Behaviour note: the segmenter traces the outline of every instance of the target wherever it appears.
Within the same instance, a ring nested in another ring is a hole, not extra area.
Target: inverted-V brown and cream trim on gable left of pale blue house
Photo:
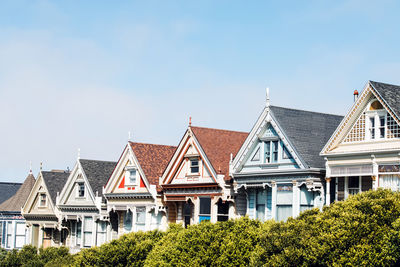
[[[175,175],[179,172],[179,169],[183,163],[183,160],[186,156],[186,153],[190,146],[193,145],[195,149],[199,152],[199,157],[201,158],[204,166],[207,168],[207,170],[211,174],[211,178],[215,183],[218,183],[218,176],[216,171],[211,165],[211,162],[207,158],[207,155],[205,154],[204,150],[201,147],[201,144],[197,140],[195,134],[189,127],[186,130],[186,133],[184,134],[181,142],[178,145],[178,148],[175,150],[174,155],[172,156],[171,161],[168,163],[167,168],[165,169],[162,177],[161,177],[161,184],[166,185],[170,184],[172,180],[174,179]],[[196,155],[197,156],[197,155]]]

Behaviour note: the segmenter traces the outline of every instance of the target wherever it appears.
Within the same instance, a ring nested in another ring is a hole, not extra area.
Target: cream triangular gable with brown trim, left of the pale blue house
[[[187,130],[162,177],[165,184],[217,183],[214,169],[194,134]]]

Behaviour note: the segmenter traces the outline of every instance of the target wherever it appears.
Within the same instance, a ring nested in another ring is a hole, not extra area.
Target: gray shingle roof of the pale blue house
[[[270,106],[273,117],[308,168],[325,168],[320,151],[343,116]]]

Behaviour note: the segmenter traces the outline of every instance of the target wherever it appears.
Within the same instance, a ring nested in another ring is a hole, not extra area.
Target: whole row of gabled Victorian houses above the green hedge
[[[250,132],[188,125],[175,146],[128,142],[118,161],[30,173],[0,204],[1,245],[99,246],[168,223],[286,220],[399,189],[400,86],[369,81],[345,117],[266,105]]]

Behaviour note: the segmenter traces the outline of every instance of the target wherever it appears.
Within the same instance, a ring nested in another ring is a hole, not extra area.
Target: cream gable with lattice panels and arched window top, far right
[[[400,127],[395,114],[368,83],[321,154],[379,149],[385,144],[378,143],[399,139]]]

